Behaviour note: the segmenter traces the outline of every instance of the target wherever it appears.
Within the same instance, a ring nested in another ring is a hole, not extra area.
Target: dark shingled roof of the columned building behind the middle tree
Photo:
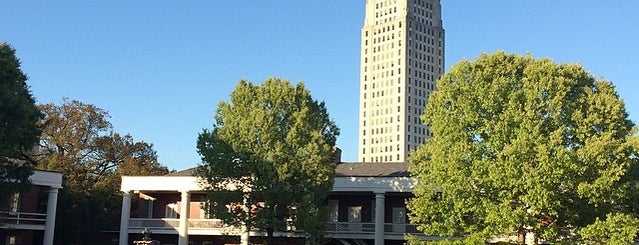
[[[195,176],[195,168],[189,168],[166,176]],[[336,177],[408,177],[408,163],[340,163],[335,167]]]

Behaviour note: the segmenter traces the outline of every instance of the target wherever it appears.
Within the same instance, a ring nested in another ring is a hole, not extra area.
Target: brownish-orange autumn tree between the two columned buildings
[[[40,145],[29,154],[38,168],[63,174],[56,244],[101,244],[100,232],[119,224],[122,175],[168,173],[153,145],[113,132],[109,114],[94,105],[65,99],[40,105]]]

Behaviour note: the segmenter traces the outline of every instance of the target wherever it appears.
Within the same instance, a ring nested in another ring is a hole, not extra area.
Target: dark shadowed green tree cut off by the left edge
[[[41,115],[15,50],[0,43],[0,211],[11,194],[29,187],[33,166],[23,152],[38,143]]]

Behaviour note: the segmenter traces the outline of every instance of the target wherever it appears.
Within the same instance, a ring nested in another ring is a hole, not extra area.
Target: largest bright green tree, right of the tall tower
[[[421,231],[470,244],[513,232],[567,244],[634,238],[637,135],[614,86],[580,65],[503,52],[462,61],[422,120],[434,137],[411,156],[420,184],[408,203]]]

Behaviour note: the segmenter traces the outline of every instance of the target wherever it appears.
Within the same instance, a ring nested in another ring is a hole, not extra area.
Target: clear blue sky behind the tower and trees
[[[39,103],[107,110],[117,132],[154,144],[172,169],[239,79],[303,81],[357,157],[359,32],[365,0],[0,1]],[[442,0],[446,68],[496,50],[579,62],[612,81],[639,122],[639,1]]]

